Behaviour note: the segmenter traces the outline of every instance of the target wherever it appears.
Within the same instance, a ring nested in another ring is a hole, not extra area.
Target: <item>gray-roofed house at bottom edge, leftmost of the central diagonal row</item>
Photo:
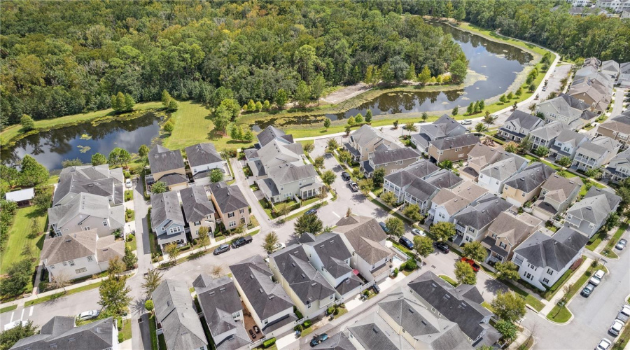
[[[158,335],[164,335],[167,350],[210,349],[186,282],[165,279],[151,298]]]

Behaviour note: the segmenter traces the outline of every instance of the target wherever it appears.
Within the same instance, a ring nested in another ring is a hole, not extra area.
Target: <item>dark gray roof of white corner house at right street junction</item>
[[[534,232],[521,243],[514,253],[526,258],[536,267],[551,267],[555,271],[563,269],[575,258],[581,248],[589,241],[589,237],[563,226],[552,237],[540,231]]]

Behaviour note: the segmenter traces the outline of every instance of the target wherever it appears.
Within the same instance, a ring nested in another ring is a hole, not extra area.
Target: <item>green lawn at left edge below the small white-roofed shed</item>
[[[34,256],[39,257],[45,235],[31,235],[31,226],[35,223],[38,232],[43,232],[45,230],[46,215],[47,214],[38,212],[35,207],[18,209],[13,220],[13,225],[11,225],[9,229],[6,248],[1,254],[0,274],[6,273],[6,269],[11,263],[22,260],[22,249],[24,249],[26,245],[31,246]],[[33,264],[33,271],[35,270],[34,265],[35,264]],[[27,286],[26,290],[32,289],[33,286],[29,282],[29,286]]]

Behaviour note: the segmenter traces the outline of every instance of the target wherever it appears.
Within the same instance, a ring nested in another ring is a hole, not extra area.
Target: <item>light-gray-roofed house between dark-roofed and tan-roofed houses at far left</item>
[[[105,237],[124,226],[125,207],[112,207],[108,197],[92,193],[79,193],[68,204],[48,208],[48,227],[55,236],[94,229]]]

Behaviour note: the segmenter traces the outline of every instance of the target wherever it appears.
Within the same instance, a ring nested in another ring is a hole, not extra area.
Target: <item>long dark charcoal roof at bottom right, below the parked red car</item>
[[[492,313],[482,307],[483,297],[477,287],[451,286],[433,272],[425,272],[407,284],[447,320],[457,323],[470,339],[477,339],[487,325],[482,320]]]

